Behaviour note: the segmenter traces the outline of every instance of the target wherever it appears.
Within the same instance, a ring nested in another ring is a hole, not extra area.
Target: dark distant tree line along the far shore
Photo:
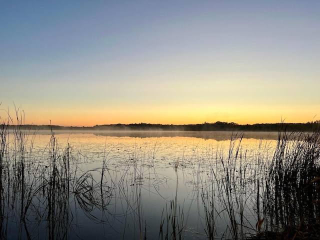
[[[2,126],[3,127],[3,126]],[[13,125],[7,126],[13,128]],[[240,125],[234,122],[216,121],[201,124],[104,124],[95,126],[20,125],[30,130],[166,130],[166,131],[312,131],[320,127],[320,120],[306,123],[256,123]]]

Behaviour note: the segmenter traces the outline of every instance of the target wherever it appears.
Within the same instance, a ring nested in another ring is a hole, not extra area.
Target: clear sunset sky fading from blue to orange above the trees
[[[314,121],[319,12],[318,0],[0,0],[0,117]]]

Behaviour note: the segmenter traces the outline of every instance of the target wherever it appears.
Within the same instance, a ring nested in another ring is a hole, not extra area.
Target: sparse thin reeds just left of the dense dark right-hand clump
[[[243,239],[252,232],[253,216],[252,199],[256,192],[257,165],[247,158],[246,151],[242,153],[241,141],[243,133],[231,136],[227,158],[220,155],[221,173],[217,178],[220,189],[219,201],[222,205],[221,213],[226,212],[228,223],[224,232],[232,239]]]

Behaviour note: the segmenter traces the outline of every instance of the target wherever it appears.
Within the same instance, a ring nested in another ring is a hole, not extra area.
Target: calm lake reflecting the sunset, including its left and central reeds
[[[1,235],[9,239],[250,236],[262,211],[257,179],[278,137],[214,131],[20,133],[6,133],[2,146]]]

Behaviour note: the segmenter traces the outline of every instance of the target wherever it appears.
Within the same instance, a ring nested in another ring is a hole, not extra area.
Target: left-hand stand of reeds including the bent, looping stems
[[[59,148],[53,131],[46,148],[33,152],[36,132],[22,127],[19,112],[16,122],[8,116],[0,124],[0,238],[69,239],[71,205],[97,219],[91,212],[106,208],[112,185],[93,179],[97,169],[78,172],[71,146]]]

